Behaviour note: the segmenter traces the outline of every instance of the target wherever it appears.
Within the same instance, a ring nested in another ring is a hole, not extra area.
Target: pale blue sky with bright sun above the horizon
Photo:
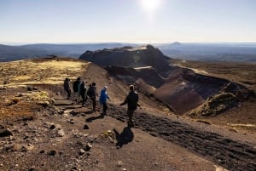
[[[0,0],[0,43],[256,42],[256,0]]]

